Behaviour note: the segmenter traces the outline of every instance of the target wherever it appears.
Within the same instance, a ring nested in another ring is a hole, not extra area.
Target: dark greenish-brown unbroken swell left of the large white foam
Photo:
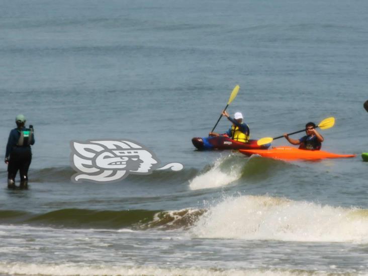
[[[25,211],[2,210],[0,221],[8,224],[29,224],[67,228],[188,228],[206,212],[205,209],[182,209],[177,211],[160,210],[87,210],[61,209],[44,214]]]

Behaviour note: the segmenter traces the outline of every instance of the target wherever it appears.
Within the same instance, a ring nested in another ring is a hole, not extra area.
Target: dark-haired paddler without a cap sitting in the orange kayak
[[[323,142],[323,137],[316,130],[316,124],[309,122],[305,125],[306,136],[303,136],[299,140],[292,139],[288,134],[284,134],[284,137],[293,145],[300,145],[300,149],[307,150],[320,150]]]

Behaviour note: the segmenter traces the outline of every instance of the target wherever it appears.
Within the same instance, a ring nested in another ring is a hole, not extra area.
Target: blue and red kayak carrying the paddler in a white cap
[[[225,136],[210,136],[210,137],[194,137],[193,145],[199,150],[211,149],[267,149],[271,144],[258,146],[257,140],[249,140],[248,143],[242,143],[230,139]]]

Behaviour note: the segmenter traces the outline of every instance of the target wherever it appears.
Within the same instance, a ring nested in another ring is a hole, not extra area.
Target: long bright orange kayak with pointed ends
[[[240,149],[245,155],[258,154],[263,157],[282,159],[282,160],[318,160],[325,158],[348,158],[355,157],[355,154],[337,154],[323,150],[305,150],[293,147],[273,147],[268,150],[262,149]]]

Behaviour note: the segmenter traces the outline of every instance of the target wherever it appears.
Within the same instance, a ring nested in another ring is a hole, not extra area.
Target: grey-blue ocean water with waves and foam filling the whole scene
[[[2,156],[17,114],[36,137],[28,191],[9,191],[0,165],[0,275],[368,274],[367,10],[0,0]],[[192,137],[207,136],[236,84],[228,111],[251,138],[333,116],[323,149],[357,157],[196,151]],[[72,182],[69,142],[103,138],[184,169]]]

